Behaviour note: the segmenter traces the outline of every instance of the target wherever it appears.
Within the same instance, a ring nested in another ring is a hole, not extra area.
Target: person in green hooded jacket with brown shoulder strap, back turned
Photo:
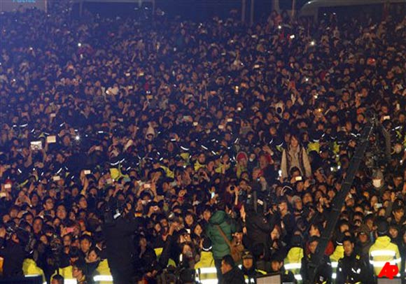
[[[217,211],[209,220],[207,236],[213,244],[212,252],[217,270],[217,278],[219,283],[222,283],[221,260],[225,255],[230,255],[231,253],[228,243],[232,240],[232,234],[235,233],[236,228],[233,220],[225,213],[225,204],[220,202],[217,208]]]

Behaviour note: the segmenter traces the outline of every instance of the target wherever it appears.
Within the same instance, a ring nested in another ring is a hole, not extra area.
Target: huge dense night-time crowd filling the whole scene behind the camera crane
[[[373,283],[386,261],[405,270],[405,17],[145,23],[57,2],[0,15],[3,277]],[[373,136],[310,269],[369,111],[391,161]]]

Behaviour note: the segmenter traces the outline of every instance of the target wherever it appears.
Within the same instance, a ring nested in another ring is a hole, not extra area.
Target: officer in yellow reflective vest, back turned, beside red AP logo
[[[398,246],[391,243],[391,238],[387,236],[389,230],[388,222],[381,218],[377,222],[377,240],[370,248],[370,264],[374,267],[374,275],[378,276],[382,267],[389,262],[397,265],[400,271],[400,253]]]

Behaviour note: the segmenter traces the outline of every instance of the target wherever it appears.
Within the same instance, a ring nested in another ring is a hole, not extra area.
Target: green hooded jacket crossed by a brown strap
[[[211,240],[213,246],[213,257],[216,260],[221,260],[225,255],[230,255],[230,247],[224,240],[221,233],[218,231],[216,225],[219,225],[223,230],[225,236],[232,240],[232,234],[235,233],[235,222],[230,218],[224,211],[216,211],[210,220],[209,226],[207,227],[207,236]]]

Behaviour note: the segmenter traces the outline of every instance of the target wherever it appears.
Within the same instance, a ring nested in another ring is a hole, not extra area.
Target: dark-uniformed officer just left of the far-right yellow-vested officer
[[[374,283],[370,264],[362,260],[360,255],[357,255],[353,250],[353,239],[350,236],[344,236],[342,246],[344,248],[344,257],[338,261],[337,279],[335,283]]]

